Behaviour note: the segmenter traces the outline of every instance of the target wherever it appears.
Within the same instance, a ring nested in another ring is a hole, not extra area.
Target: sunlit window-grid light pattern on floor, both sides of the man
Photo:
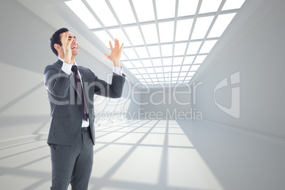
[[[176,121],[102,122],[95,128],[89,189],[223,189]],[[49,189],[46,137],[0,147],[1,186]]]

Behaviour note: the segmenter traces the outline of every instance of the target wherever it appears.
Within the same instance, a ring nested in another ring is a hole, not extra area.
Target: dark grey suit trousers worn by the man
[[[87,190],[93,166],[93,142],[89,131],[82,131],[73,146],[50,144],[51,190]]]

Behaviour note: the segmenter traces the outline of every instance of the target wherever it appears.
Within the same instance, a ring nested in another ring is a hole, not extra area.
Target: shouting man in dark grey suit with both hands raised
[[[111,84],[99,79],[75,61],[79,43],[67,28],[60,28],[50,38],[52,52],[58,60],[47,65],[44,72],[47,99],[50,101],[50,145],[52,161],[52,190],[88,188],[93,165],[94,94],[120,98],[125,82],[121,69],[119,40],[110,42],[111,54],[104,55],[113,62]]]

